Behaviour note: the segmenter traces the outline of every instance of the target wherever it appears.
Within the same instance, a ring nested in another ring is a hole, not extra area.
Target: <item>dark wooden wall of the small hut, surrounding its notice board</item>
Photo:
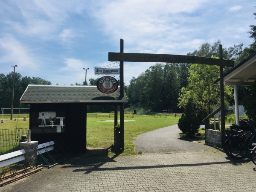
[[[29,128],[31,140],[38,143],[54,141],[70,147],[73,152],[86,151],[86,103],[43,103],[30,104]],[[56,111],[57,117],[65,117],[64,132],[42,133],[41,119],[38,119],[41,111]]]

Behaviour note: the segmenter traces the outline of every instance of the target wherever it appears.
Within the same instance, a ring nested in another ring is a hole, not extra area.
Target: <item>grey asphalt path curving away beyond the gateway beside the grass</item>
[[[178,136],[178,125],[171,125],[135,137],[136,151],[142,153],[166,153],[212,150],[204,142],[185,140]]]

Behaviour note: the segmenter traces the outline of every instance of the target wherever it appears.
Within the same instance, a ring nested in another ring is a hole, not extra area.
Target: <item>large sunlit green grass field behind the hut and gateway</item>
[[[23,121],[23,116],[26,116],[26,121]],[[10,120],[10,116],[5,116],[3,123],[0,123],[0,129],[10,128],[29,128],[29,117],[27,115],[14,115],[16,121]],[[14,119],[13,118],[13,119]],[[179,115],[153,116],[153,115],[134,115],[134,118],[125,117],[124,120],[124,152],[122,155],[137,154],[134,150],[134,138],[148,131],[153,131],[158,128],[163,128],[169,125],[175,125],[180,118]],[[106,122],[106,121],[112,122]],[[87,114],[87,147],[90,148],[108,148],[114,143],[114,116],[110,118],[96,118],[96,114]],[[111,153],[110,153],[111,154]]]

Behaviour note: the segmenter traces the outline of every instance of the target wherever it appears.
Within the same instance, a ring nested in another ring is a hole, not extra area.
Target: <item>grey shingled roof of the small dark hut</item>
[[[119,88],[114,93],[102,93],[96,86],[60,86],[29,84],[20,98],[20,103],[123,103]]]

